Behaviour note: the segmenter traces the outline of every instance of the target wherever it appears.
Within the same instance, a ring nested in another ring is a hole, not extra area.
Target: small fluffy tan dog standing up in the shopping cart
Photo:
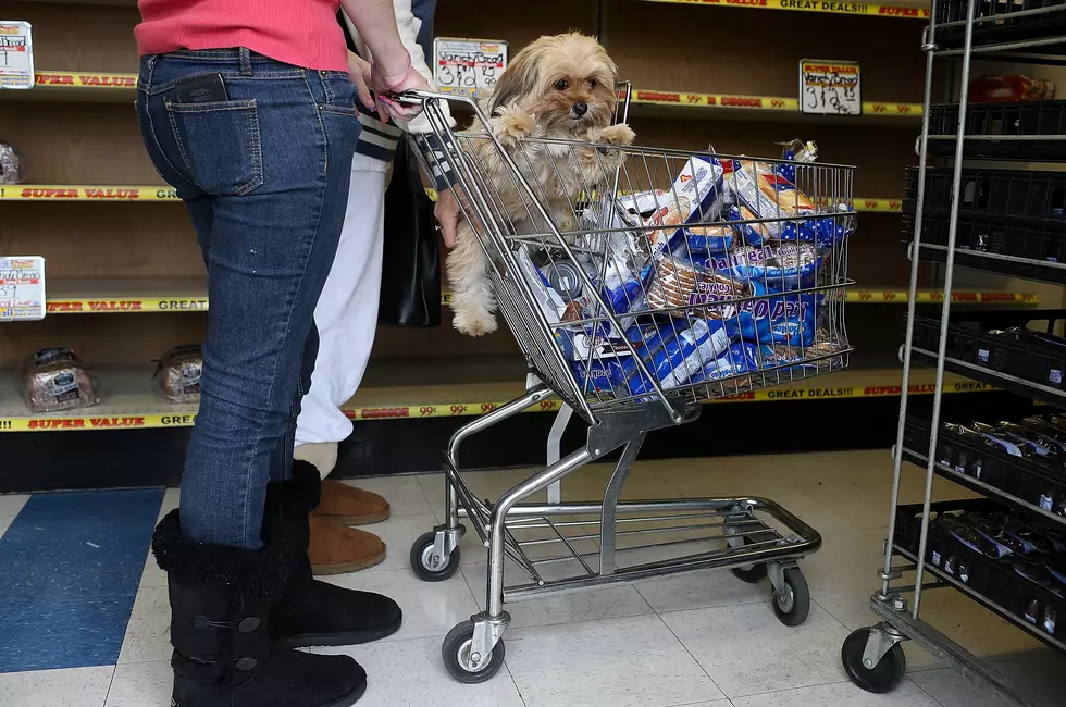
[[[633,142],[628,125],[611,125],[618,104],[617,84],[618,67],[599,42],[569,33],[541,37],[522,49],[500,74],[492,96],[482,102],[488,116],[487,131],[515,159],[560,231],[575,226],[571,200],[585,189],[602,186],[621,165],[624,152],[611,146]],[[463,135],[485,133],[486,126],[475,121]],[[604,147],[572,149],[522,142],[523,138],[598,142]],[[460,142],[476,158],[482,176],[491,183],[500,211],[510,220],[508,231],[544,233],[547,226],[492,141],[468,138]],[[471,336],[496,331],[496,300],[486,272],[489,263],[467,222],[459,224],[446,266],[455,327]]]

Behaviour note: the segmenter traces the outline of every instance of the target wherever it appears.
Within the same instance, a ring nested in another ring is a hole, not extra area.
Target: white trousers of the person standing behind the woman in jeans
[[[340,406],[362,382],[377,331],[387,169],[362,154],[351,162],[340,245],[314,308],[319,355],[296,423],[296,446],[337,443],[351,434]]]

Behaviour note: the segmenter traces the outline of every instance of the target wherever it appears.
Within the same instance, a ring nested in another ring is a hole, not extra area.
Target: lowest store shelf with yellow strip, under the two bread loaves
[[[115,429],[190,426],[196,406],[171,405],[151,389],[151,370],[94,371],[101,402],[83,410],[32,412],[23,401],[18,376],[0,373],[0,432],[69,432]],[[774,388],[752,390],[718,400],[781,402],[897,397],[897,369],[848,369]],[[446,379],[442,382],[441,379]],[[932,393],[933,372],[912,375],[912,395]],[[984,393],[991,386],[945,377],[947,393]],[[352,420],[459,418],[485,414],[525,389],[525,367],[518,357],[476,357],[449,361],[371,361],[362,388],[343,407]],[[558,410],[558,399],[531,407],[528,412]]]

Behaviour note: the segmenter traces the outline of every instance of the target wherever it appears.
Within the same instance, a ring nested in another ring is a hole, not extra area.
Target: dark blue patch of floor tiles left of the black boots
[[[0,672],[113,665],[163,489],[37,494],[0,537]]]

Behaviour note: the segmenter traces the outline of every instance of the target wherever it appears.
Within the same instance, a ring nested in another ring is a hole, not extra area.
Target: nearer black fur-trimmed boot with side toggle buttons
[[[182,535],[176,510],[156,528],[152,551],[170,587],[172,707],[348,707],[367,690],[367,673],[347,656],[272,645],[271,606],[295,538],[269,511],[262,550],[196,543]]]

